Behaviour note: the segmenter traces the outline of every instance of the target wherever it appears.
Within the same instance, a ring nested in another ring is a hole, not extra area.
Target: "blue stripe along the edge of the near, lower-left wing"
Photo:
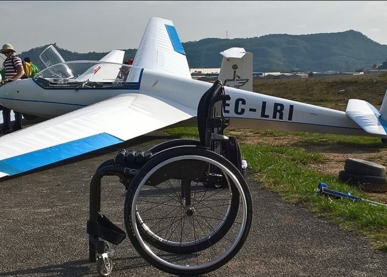
[[[5,159],[0,161],[0,172],[12,176],[122,142],[122,140],[115,136],[100,133],[80,140]]]

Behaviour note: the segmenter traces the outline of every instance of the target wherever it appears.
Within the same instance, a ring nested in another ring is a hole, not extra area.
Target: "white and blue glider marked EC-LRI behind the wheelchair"
[[[79,72],[75,64],[54,65],[34,78],[0,88],[3,105],[53,117],[0,137],[0,180],[174,124],[196,125],[192,119],[198,102],[212,86],[191,78],[176,29],[172,21],[161,18],[149,21],[126,79],[96,82],[92,77],[99,69],[79,82],[74,80]],[[90,62],[77,64],[82,72],[91,68]],[[106,64],[108,71],[116,70],[111,75],[118,74],[120,64]],[[63,65],[71,74],[62,71]],[[366,101],[351,99],[343,112],[227,86],[225,93],[231,99],[225,102],[224,114],[233,127],[387,138],[385,98],[380,111]]]

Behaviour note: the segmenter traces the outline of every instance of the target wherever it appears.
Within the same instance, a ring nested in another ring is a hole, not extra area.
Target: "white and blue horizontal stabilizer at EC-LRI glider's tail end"
[[[385,124],[384,120],[381,120],[377,109],[367,101],[349,99],[345,112],[364,131],[380,135],[387,134],[387,125]]]

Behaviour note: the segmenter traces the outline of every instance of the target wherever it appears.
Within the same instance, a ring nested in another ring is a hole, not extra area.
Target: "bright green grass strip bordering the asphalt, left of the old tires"
[[[346,230],[364,234],[375,248],[387,251],[387,210],[384,207],[316,194],[317,185],[323,182],[335,190],[351,191],[353,195],[368,198],[363,192],[339,182],[336,176],[304,168],[304,165],[321,162],[320,154],[294,147],[251,145],[242,145],[242,153],[253,178],[265,188],[278,192],[286,201],[302,203]]]

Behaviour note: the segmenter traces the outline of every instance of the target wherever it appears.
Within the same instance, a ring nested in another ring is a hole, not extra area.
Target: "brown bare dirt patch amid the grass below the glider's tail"
[[[242,134],[242,135],[241,135]],[[344,169],[345,160],[355,158],[370,161],[387,167],[387,145],[365,145],[359,147],[355,144],[305,143],[298,135],[274,136],[256,133],[252,129],[228,129],[227,135],[237,136],[238,141],[251,145],[266,144],[272,146],[301,147],[308,153],[320,153],[324,156],[323,163],[308,165],[308,168],[322,173],[338,176]],[[387,193],[366,193],[375,201],[387,204]]]

